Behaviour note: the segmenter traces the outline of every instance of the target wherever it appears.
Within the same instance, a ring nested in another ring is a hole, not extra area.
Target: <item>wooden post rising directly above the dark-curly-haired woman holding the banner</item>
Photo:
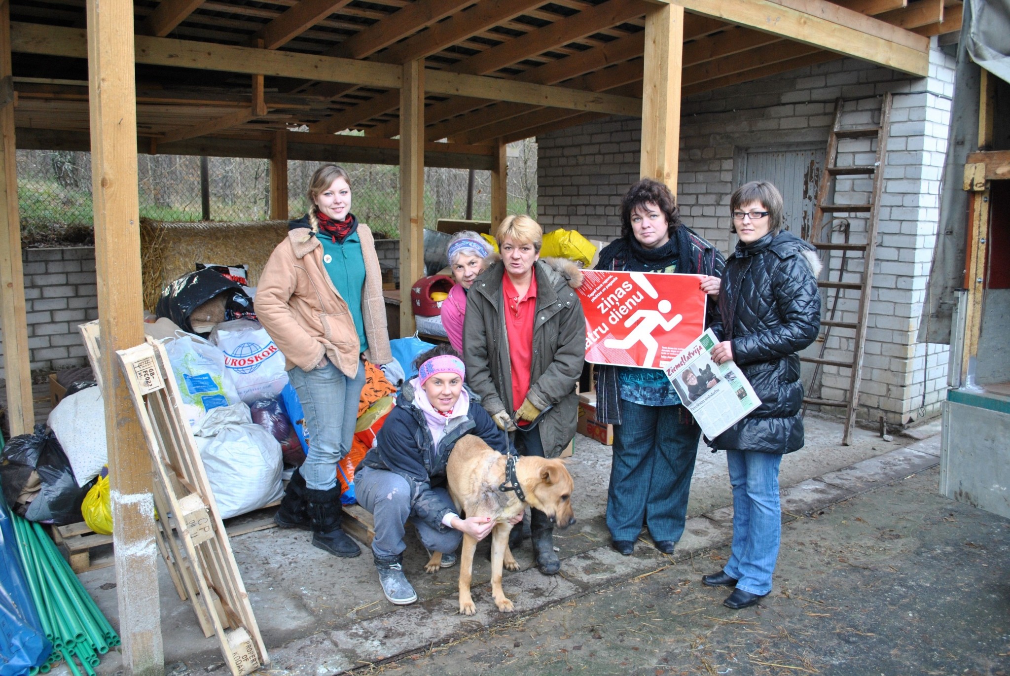
[[[641,177],[662,181],[677,194],[681,143],[681,66],[684,8],[656,5],[645,14],[641,101]]]

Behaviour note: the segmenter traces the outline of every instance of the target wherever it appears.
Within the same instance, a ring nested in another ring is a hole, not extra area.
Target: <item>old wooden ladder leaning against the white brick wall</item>
[[[820,354],[817,357],[801,357],[800,359],[801,361],[814,364],[811,384],[817,382],[821,367],[823,366],[837,366],[851,370],[847,401],[812,397],[805,397],[803,399],[804,413],[809,404],[845,408],[845,427],[842,432],[841,443],[843,446],[848,446],[852,441],[852,427],[855,424],[855,413],[860,402],[860,381],[863,377],[867,319],[870,315],[870,290],[873,288],[874,262],[877,252],[877,225],[880,219],[881,193],[884,188],[883,168],[887,159],[888,129],[891,126],[891,94],[884,94],[879,126],[842,126],[841,115],[844,104],[845,102],[840,98],[835,101],[834,121],[831,124],[831,133],[828,136],[827,151],[824,155],[824,171],[821,173],[820,183],[817,188],[817,205],[814,209],[814,217],[809,234],[811,245],[816,247],[818,251],[828,252],[828,260],[825,261],[824,274],[822,275],[824,279],[818,280],[817,285],[822,289],[827,289],[828,294],[832,294],[833,292],[833,295],[830,307],[826,309],[825,318],[821,319],[821,326],[824,327],[824,333]],[[874,164],[839,167],[836,164],[838,159],[838,140],[866,137],[877,138],[877,153]],[[833,204],[829,202],[829,199],[834,198],[834,182],[839,176],[872,176],[874,183],[870,201],[865,204]],[[848,220],[838,218],[836,214],[863,213],[869,214],[867,217],[867,244],[852,244],[849,240],[851,232]],[[826,223],[825,216],[828,217]],[[834,242],[835,237],[832,235],[837,234],[839,231],[843,234],[843,242]],[[837,280],[834,281],[831,280],[831,252],[840,252],[841,254],[841,261],[837,268]],[[856,273],[861,277],[860,281],[844,281],[846,273],[851,274],[847,270],[848,262],[860,260],[861,254],[863,272]],[[835,319],[842,291],[858,291],[860,302],[855,321],[839,321]],[[832,328],[845,328],[855,331],[851,360],[824,358]]]

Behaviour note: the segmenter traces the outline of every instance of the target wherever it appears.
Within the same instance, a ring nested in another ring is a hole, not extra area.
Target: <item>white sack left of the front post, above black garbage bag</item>
[[[64,397],[49,412],[47,422],[67,454],[77,485],[83,487],[108,462],[102,390],[86,387]]]

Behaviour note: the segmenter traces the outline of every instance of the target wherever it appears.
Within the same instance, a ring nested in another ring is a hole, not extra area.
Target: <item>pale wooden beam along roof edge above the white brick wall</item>
[[[688,11],[925,77],[929,40],[826,0],[670,0]]]

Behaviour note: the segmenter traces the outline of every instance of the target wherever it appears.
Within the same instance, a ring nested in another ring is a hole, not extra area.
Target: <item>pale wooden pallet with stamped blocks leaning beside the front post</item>
[[[209,617],[232,675],[248,674],[270,659],[196,441],[174,403],[182,395],[168,355],[148,339],[117,356],[154,460],[156,494],[168,502],[162,518],[171,519],[200,592],[198,615]]]

